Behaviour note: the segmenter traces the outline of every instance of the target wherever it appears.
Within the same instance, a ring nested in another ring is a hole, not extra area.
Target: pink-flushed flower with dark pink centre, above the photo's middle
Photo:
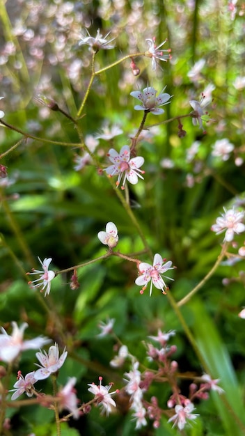
[[[120,181],[122,180],[121,189],[125,189],[126,179],[132,185],[136,185],[138,182],[138,177],[143,179],[141,174],[145,173],[139,169],[144,161],[144,158],[141,156],[136,156],[130,159],[130,148],[129,146],[123,146],[120,150],[120,153],[113,148],[109,150],[108,157],[113,165],[110,165],[108,168],[104,169],[109,176],[115,176],[118,174],[118,180],[116,185],[120,185]],[[123,178],[122,178],[123,176]]]

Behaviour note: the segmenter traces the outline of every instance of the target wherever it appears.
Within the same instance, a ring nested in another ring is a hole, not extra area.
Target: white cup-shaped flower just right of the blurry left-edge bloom
[[[44,380],[45,378],[49,377],[50,374],[56,373],[59,368],[63,365],[68,352],[63,351],[61,357],[58,357],[58,345],[55,343],[51,347],[49,347],[49,353],[47,354],[46,351],[38,351],[36,354],[36,357],[40,361],[40,364],[36,364],[37,366],[40,366],[38,371],[35,371],[35,380]]]

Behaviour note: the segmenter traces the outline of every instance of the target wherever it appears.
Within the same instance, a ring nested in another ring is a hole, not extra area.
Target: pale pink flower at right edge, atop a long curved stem
[[[244,219],[244,212],[236,211],[234,207],[229,210],[223,208],[223,210],[225,213],[216,219],[216,224],[211,227],[211,230],[216,232],[216,235],[226,231],[224,241],[231,242],[234,233],[239,234],[245,231],[245,225],[241,222]]]

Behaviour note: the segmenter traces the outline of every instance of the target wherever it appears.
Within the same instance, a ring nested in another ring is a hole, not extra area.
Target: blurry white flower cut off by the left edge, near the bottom
[[[36,350],[42,347],[46,343],[50,342],[50,339],[38,336],[37,338],[24,341],[24,330],[28,327],[28,324],[24,322],[20,327],[17,326],[15,321],[12,322],[13,332],[9,335],[3,328],[0,334],[0,361],[12,362],[20,352],[24,350]]]

